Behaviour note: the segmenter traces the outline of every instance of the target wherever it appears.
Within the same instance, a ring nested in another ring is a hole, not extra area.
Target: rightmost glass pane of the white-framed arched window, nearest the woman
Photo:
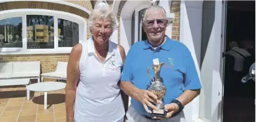
[[[79,25],[69,20],[58,19],[59,47],[72,47],[78,43]]]

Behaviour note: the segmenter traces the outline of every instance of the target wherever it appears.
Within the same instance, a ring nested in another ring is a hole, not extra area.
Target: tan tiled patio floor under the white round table
[[[48,92],[44,110],[44,92],[31,92],[26,99],[26,87],[0,87],[1,122],[65,122],[65,90]]]

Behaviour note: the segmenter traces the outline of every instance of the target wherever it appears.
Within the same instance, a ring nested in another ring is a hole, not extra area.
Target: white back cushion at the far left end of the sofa
[[[8,79],[12,74],[12,62],[0,63],[0,79]]]

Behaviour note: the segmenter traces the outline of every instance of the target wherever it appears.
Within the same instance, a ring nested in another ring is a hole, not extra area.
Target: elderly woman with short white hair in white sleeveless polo
[[[103,2],[88,19],[92,37],[75,45],[67,66],[67,122],[123,122],[128,96],[119,82],[125,51],[109,40],[116,28],[113,12]]]

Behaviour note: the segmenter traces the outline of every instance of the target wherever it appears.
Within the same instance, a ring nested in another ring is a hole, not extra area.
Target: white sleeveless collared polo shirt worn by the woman
[[[116,122],[125,116],[119,86],[123,61],[118,45],[108,42],[107,57],[102,63],[95,53],[92,38],[81,44],[74,119],[77,122]]]

